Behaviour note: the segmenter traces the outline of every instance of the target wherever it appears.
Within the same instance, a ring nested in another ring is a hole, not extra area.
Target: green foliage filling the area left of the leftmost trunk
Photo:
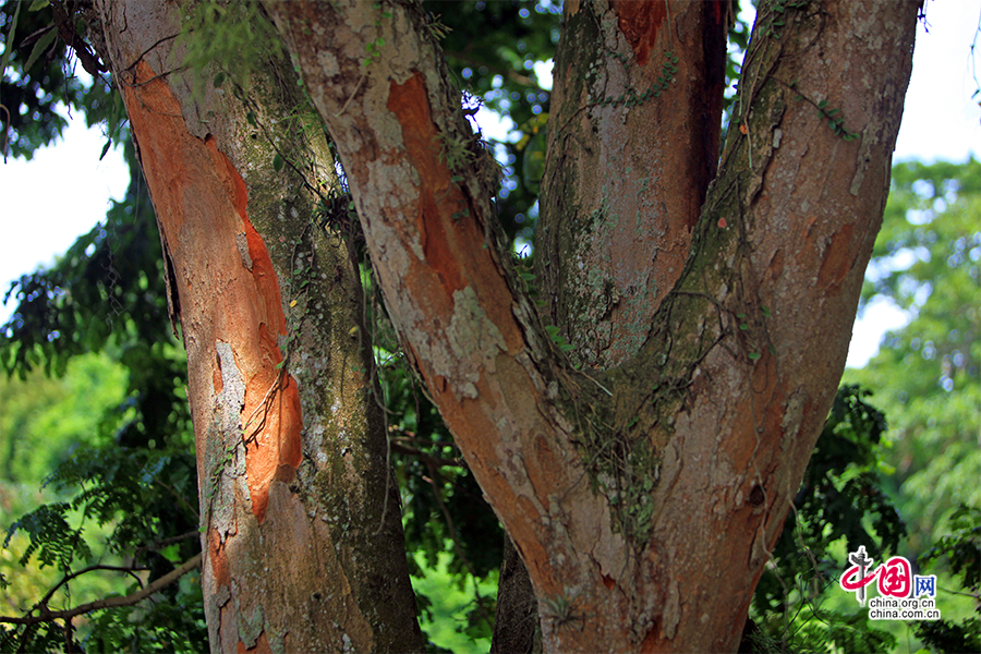
[[[15,4],[2,8],[4,36],[10,35]],[[47,3],[22,4],[16,35],[32,34],[27,28],[52,28]],[[3,71],[4,105],[17,109],[11,100],[20,98],[21,108],[12,113],[31,112],[21,123],[12,119],[12,154],[29,158],[35,147],[60,133],[64,121],[56,113],[59,99],[84,111],[89,124],[101,122],[107,148],[113,140],[125,140],[122,102],[107,81],[97,77],[83,84],[71,76],[64,47],[55,41],[51,48],[55,59],[36,63],[23,48],[15,50]],[[5,294],[17,301],[11,320],[0,327],[0,364],[8,375],[36,380],[37,368],[43,368],[48,375],[64,376],[70,362],[82,355],[90,359],[94,352],[108,354],[126,371],[116,378],[117,395],[109,397],[96,392],[105,377],[89,365],[89,384],[75,395],[86,400],[85,429],[65,432],[73,423],[62,416],[40,448],[51,464],[62,460],[66,449],[78,447],[48,480],[57,499],[23,516],[7,534],[8,544],[23,544],[22,566],[36,561],[62,576],[45,596],[34,598],[39,603],[27,615],[53,610],[52,603],[71,607],[94,589],[102,596],[131,592],[199,549],[196,465],[183,390],[186,364],[167,320],[160,242],[132,144],[124,155],[131,185],[123,201],[109,209],[105,223],[80,237],[55,266],[21,277]],[[68,378],[77,375],[72,372]],[[10,382],[5,387],[13,388]],[[37,384],[34,390],[43,387]],[[32,434],[29,424],[2,426],[0,443],[11,455]],[[15,467],[8,462],[4,468],[7,479],[14,471],[24,482],[36,474],[20,459]],[[121,580],[119,572],[105,569],[106,561],[138,574]],[[16,586],[33,585],[35,579],[21,573],[2,583],[12,596],[23,597]],[[199,588],[183,581],[168,592],[175,606],[149,598],[138,606],[96,614],[77,632],[50,621],[4,626],[0,651],[206,649]],[[90,645],[89,640],[99,644]]]

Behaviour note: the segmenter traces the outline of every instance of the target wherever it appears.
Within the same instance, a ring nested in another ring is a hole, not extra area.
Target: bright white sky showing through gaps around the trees
[[[979,88],[974,75],[981,78],[981,0],[928,0],[925,11],[925,25],[920,22],[917,28],[894,161],[979,158],[981,95],[971,95]],[[0,301],[11,281],[52,264],[104,219],[112,198],[123,197],[129,171],[117,149],[99,161],[105,143],[98,128],[86,129],[75,116],[57,145],[38,150],[31,161],[11,158],[0,164]],[[13,301],[0,305],[0,325],[13,308]],[[856,323],[847,365],[864,365],[885,330],[908,319],[895,305],[871,305]]]

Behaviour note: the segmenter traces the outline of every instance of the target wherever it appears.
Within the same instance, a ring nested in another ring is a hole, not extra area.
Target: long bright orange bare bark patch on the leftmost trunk
[[[277,336],[287,332],[279,281],[262,237],[249,220],[242,175],[215,138],[198,138],[184,123],[179,100],[145,60],[132,84],[123,85],[126,109],[141,146],[160,228],[170,245],[189,348],[191,403],[197,451],[209,433],[215,393],[222,388],[215,344],[229,343],[245,383],[242,421],[246,433],[246,474],[253,512],[262,523],[274,479],[301,459],[302,414],[295,383],[281,374]],[[251,269],[239,251],[245,233]],[[192,327],[193,326],[193,327]],[[199,474],[210,471],[199,463]],[[214,549],[214,548],[213,548]],[[220,553],[214,549],[213,556]],[[220,576],[217,574],[219,577]]]

